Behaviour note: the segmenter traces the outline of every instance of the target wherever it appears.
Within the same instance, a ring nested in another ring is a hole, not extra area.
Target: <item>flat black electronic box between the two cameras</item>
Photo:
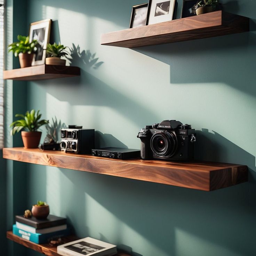
[[[114,159],[130,159],[141,156],[138,149],[122,149],[121,147],[104,147],[103,149],[93,149],[91,154],[96,157],[107,157]]]

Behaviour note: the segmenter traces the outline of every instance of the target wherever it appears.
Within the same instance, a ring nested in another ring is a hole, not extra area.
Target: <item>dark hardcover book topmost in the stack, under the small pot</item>
[[[45,229],[46,227],[55,227],[67,224],[66,218],[48,215],[46,219],[36,219],[34,216],[25,218],[23,215],[16,215],[15,220],[19,223],[34,227],[35,229]]]

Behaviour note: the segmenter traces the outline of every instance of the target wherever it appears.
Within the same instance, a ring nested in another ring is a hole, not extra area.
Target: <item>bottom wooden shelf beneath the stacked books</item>
[[[20,245],[23,245],[27,248],[38,251],[39,253],[45,254],[47,256],[59,256],[60,255],[60,254],[57,254],[57,247],[50,246],[48,243],[38,245],[37,243],[30,242],[26,239],[18,237],[17,235],[14,235],[12,231],[7,231],[6,237],[16,243],[19,243]],[[77,238],[73,235],[73,236],[69,236],[69,237],[64,237],[62,239],[65,243],[67,243],[67,242],[77,240],[79,238]],[[116,256],[130,256],[130,255],[125,254],[125,253],[118,253],[118,254],[116,254]]]

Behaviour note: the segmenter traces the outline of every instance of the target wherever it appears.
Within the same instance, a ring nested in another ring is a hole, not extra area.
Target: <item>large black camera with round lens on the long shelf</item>
[[[144,160],[190,160],[194,158],[195,129],[176,120],[145,126],[138,133]]]

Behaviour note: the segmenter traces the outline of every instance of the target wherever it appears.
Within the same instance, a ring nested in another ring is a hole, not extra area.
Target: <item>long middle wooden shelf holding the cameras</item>
[[[247,166],[229,163],[118,160],[23,147],[4,148],[3,158],[204,191],[248,181]]]

